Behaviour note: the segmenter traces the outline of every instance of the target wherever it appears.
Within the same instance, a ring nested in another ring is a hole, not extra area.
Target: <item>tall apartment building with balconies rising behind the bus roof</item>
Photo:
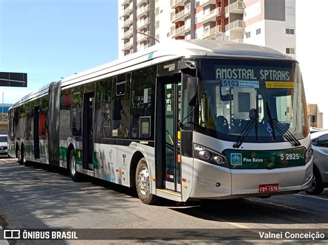
[[[245,42],[295,55],[295,0],[119,0],[118,8],[119,56],[166,38]]]

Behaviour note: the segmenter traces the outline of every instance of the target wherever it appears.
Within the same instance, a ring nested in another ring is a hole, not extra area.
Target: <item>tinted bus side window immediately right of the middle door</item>
[[[95,84],[95,137],[111,137],[112,78]]]

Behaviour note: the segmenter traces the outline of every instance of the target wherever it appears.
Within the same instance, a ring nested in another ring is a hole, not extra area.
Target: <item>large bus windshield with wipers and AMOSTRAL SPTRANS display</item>
[[[229,141],[246,134],[243,142],[248,143],[291,141],[309,134],[297,63],[206,58],[199,66],[196,130]]]

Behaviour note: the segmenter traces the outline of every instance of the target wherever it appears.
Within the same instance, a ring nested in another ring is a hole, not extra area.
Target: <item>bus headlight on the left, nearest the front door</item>
[[[208,149],[202,145],[194,144],[194,158],[221,167],[229,167],[228,159],[224,154],[215,152],[214,150]]]

